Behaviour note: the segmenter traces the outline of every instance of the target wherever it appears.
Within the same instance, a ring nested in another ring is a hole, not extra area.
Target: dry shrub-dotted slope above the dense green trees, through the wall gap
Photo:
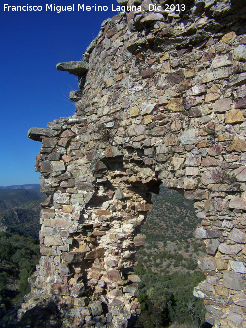
[[[205,252],[203,240],[194,237],[200,219],[193,202],[163,186],[152,200],[154,208],[141,229],[146,244],[137,253],[137,260],[156,273],[192,273],[197,258]]]

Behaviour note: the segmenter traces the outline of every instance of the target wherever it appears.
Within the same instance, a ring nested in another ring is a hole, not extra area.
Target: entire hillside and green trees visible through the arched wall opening
[[[141,279],[142,311],[133,327],[211,327],[204,323],[203,300],[193,297],[193,288],[205,279],[197,267],[205,245],[194,237],[199,219],[193,202],[163,186],[152,200],[153,211],[141,229],[146,244],[137,252],[134,268]]]

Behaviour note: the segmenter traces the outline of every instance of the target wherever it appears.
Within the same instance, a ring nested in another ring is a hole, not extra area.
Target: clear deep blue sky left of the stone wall
[[[74,3],[75,10],[46,11],[52,3]],[[4,11],[4,4],[43,10]],[[78,4],[104,5],[108,11],[78,11]],[[41,143],[27,139],[28,129],[74,114],[65,94],[78,89],[77,78],[56,70],[56,64],[82,59],[102,21],[117,14],[112,5],[116,9],[117,1],[4,0],[0,5],[0,186],[40,182],[34,165]]]

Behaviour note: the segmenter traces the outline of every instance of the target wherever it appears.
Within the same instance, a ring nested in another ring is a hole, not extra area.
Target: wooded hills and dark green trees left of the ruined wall
[[[45,195],[39,189],[0,187],[0,318],[30,292],[27,278],[40,257],[40,203]]]

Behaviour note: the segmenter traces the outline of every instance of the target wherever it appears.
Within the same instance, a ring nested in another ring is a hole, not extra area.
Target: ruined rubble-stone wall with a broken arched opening
[[[42,141],[47,200],[42,257],[19,316],[52,299],[67,327],[127,327],[140,313],[139,227],[163,183],[193,199],[201,218],[206,281],[194,293],[206,321],[245,327],[245,5],[139,4],[103,22],[83,62],[59,64],[78,76],[75,115],[29,131]]]

